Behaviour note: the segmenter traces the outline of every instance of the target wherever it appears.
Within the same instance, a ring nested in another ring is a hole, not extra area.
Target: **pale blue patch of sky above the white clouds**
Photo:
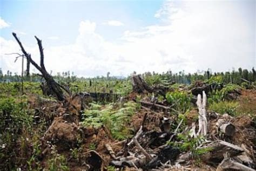
[[[146,25],[158,23],[154,13],[163,1],[2,1],[1,17],[10,22],[12,29],[26,33],[25,41],[31,42],[32,35],[42,39],[51,36],[61,38],[47,45],[69,44],[77,36],[82,20],[99,23],[96,32],[106,40],[115,40],[125,30],[136,30]],[[107,20],[122,21],[124,26],[104,26]],[[10,29],[1,31],[6,39],[11,39]]]

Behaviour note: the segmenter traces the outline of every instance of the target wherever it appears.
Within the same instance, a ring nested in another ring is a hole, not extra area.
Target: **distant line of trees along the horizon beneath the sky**
[[[133,72],[136,74],[136,72]],[[25,74],[24,74],[25,75]],[[85,80],[122,80],[127,79],[124,77],[110,77],[110,73],[104,76],[97,76],[95,78],[84,78],[84,77],[77,77],[70,72],[62,72],[57,73],[57,76],[53,76],[56,80],[60,83],[72,83],[74,81],[85,81]],[[161,80],[166,81],[175,81],[176,83],[180,84],[191,84],[193,81],[197,80],[206,80],[210,79],[212,76],[220,76],[222,78],[223,83],[233,83],[233,84],[241,84],[243,82],[254,82],[256,81],[256,73],[254,68],[248,71],[247,69],[233,70],[232,72],[211,72],[211,70],[207,70],[204,72],[197,72],[197,73],[188,73],[186,74],[184,71],[180,71],[179,73],[172,73],[172,71],[167,71],[163,73],[155,73],[155,72],[145,72],[142,74],[143,78],[150,84],[158,84],[161,83]],[[12,73],[11,71],[7,71],[7,73],[3,73],[0,69],[0,82],[19,82],[22,78],[17,73]],[[41,82],[43,81],[42,77],[38,74],[32,73],[29,77],[23,78],[24,81],[31,81],[31,82]]]

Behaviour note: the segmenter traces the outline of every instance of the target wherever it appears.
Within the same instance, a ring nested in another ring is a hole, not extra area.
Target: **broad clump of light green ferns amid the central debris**
[[[104,125],[110,130],[113,138],[123,140],[131,135],[127,123],[136,111],[136,107],[137,104],[131,101],[123,106],[91,104],[90,110],[84,111],[82,125],[93,127]]]

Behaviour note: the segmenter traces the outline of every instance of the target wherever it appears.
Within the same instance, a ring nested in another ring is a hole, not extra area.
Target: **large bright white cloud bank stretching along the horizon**
[[[162,24],[127,30],[119,44],[99,35],[95,22],[82,21],[75,43],[45,49],[46,68],[93,77],[108,71],[126,76],[133,71],[226,71],[256,66],[255,17],[247,17],[238,2],[166,2],[155,17]],[[0,58],[18,51],[13,40],[0,40]],[[36,44],[26,49],[38,60]],[[19,71],[10,57],[3,59],[5,71]]]

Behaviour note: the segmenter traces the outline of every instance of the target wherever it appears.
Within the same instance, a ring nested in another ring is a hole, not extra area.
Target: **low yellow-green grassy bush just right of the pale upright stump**
[[[230,115],[237,115],[238,106],[238,102],[235,101],[220,101],[210,104],[209,110],[220,114],[228,113]]]

